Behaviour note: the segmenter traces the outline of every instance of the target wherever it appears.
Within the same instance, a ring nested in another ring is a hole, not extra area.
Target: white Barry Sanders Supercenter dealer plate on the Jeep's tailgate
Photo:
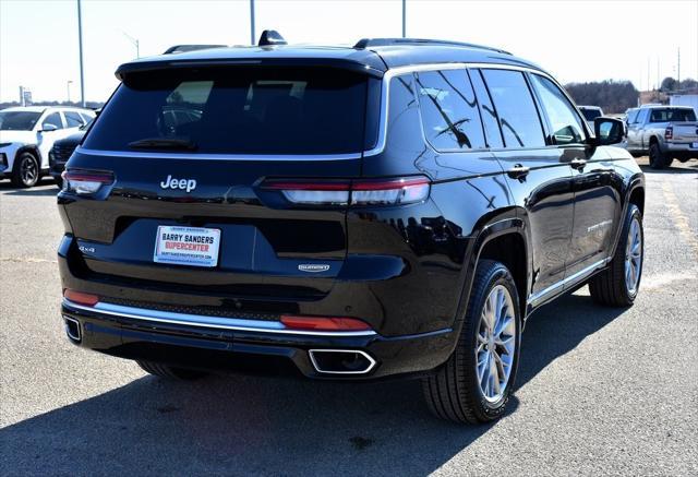
[[[174,265],[216,266],[220,230],[217,228],[159,226],[153,261]]]

